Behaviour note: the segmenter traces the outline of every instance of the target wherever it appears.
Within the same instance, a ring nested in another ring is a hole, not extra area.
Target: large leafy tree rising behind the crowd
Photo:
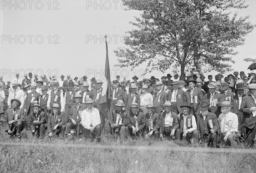
[[[123,0],[129,10],[142,11],[137,29],[127,31],[125,45],[118,48],[117,67],[135,68],[147,63],[145,73],[163,73],[170,67],[180,67],[181,79],[185,68],[224,73],[232,70],[233,49],[244,44],[244,37],[255,26],[248,16],[231,16],[230,8],[243,9],[241,0]]]

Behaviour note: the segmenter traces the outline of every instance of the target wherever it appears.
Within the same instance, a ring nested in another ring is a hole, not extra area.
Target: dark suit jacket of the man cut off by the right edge
[[[248,94],[242,98],[240,111],[243,113],[242,125],[249,129],[254,128],[256,123],[256,116],[253,117],[253,113],[250,112],[251,107],[256,107],[256,103],[252,95]]]

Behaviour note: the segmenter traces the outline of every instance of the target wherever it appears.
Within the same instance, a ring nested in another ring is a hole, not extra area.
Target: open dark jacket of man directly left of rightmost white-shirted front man
[[[197,118],[197,130],[199,132],[199,134],[201,135],[201,137],[204,135],[204,121],[202,121],[203,116],[202,114],[200,114]],[[211,133],[210,130],[213,129],[215,130],[215,133],[218,131],[219,129],[219,124],[218,124],[218,119],[217,116],[214,113],[208,112],[207,116],[205,118],[207,120],[207,128],[209,131],[209,134]],[[210,127],[210,120],[212,120],[212,128]]]

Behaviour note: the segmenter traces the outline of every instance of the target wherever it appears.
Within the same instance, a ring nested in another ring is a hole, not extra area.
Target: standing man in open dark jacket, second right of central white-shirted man
[[[180,105],[185,102],[185,91],[179,89],[180,82],[178,80],[172,81],[173,89],[168,92],[168,101],[172,103],[172,111],[177,115],[182,112]]]

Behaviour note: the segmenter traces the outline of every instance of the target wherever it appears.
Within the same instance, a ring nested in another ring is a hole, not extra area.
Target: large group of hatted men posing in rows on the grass
[[[237,147],[243,141],[251,147],[256,134],[256,75],[249,74],[245,80],[244,72],[241,79],[237,71],[233,74],[224,80],[217,74],[216,82],[212,75],[207,82],[204,75],[198,79],[195,74],[186,81],[178,80],[177,74],[174,79],[167,74],[161,80],[142,81],[134,76],[132,82],[116,76],[110,104],[101,102],[105,89],[101,79],[88,82],[86,76],[73,80],[67,75],[64,80],[62,75],[60,81],[52,79],[47,85],[42,78],[30,84],[20,84],[17,78],[9,92],[6,132],[20,139],[20,131],[27,126],[41,138],[76,133],[100,141],[111,108],[115,138],[154,136],[196,147],[203,141],[211,147],[220,141]]]

